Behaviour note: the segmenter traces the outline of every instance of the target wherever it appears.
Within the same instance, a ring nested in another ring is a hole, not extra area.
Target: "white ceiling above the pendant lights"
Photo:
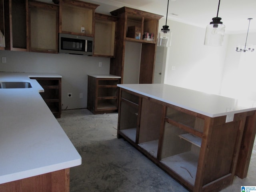
[[[38,0],[52,3],[52,0]],[[163,15],[166,18],[168,0],[82,0],[99,4],[96,12],[110,14],[117,8],[127,6]],[[218,0],[169,0],[168,19],[206,28],[217,16]],[[256,0],[221,0],[218,17],[222,18],[228,34],[256,32]],[[168,22],[167,22],[168,25]],[[172,29],[172,26],[170,26]]]

